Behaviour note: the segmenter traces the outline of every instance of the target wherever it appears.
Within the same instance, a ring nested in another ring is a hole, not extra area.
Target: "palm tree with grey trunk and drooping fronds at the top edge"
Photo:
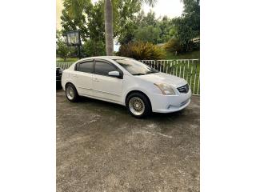
[[[106,55],[113,55],[114,51],[114,33],[113,33],[113,5],[112,1],[104,0],[104,19],[105,19],[105,38],[106,38]],[[137,0],[140,3],[146,3],[150,6],[154,6],[158,0]],[[64,6],[68,9],[70,17],[82,14],[82,10],[90,0],[63,0]]]

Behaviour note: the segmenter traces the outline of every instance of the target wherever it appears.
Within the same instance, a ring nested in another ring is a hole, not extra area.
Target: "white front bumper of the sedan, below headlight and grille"
[[[154,94],[150,97],[150,102],[153,112],[171,113],[186,108],[190,104],[190,98],[191,90],[186,94]]]

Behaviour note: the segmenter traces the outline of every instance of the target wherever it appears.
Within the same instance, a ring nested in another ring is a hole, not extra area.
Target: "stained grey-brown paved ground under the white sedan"
[[[57,191],[199,191],[199,97],[174,114],[130,116],[124,106],[57,91]]]

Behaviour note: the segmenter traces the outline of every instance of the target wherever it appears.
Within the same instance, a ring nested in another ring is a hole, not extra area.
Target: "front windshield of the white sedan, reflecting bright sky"
[[[154,70],[152,67],[147,66],[142,62],[138,62],[134,59],[117,59],[114,60],[118,62],[120,66],[125,68],[132,75],[144,75],[144,74],[154,74],[158,73],[158,70]]]

